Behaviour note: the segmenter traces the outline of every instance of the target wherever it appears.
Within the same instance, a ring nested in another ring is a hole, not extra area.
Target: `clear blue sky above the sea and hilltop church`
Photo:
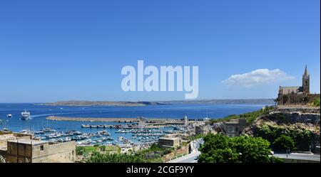
[[[198,65],[198,99],[274,98],[305,64],[320,92],[319,0],[1,1],[0,27],[0,102],[184,99],[123,92],[137,60]]]

